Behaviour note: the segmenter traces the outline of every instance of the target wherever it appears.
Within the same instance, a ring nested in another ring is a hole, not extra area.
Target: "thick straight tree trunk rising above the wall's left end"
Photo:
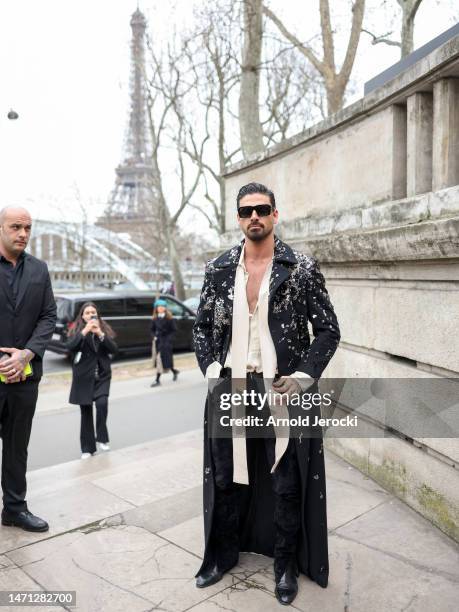
[[[243,0],[244,46],[239,93],[239,129],[244,158],[264,151],[265,148],[259,109],[262,11],[262,0]]]

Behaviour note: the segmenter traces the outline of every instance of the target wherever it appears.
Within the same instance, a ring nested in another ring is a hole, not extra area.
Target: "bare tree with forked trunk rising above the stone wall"
[[[266,17],[276,25],[281,34],[298,49],[309,62],[311,62],[314,68],[322,76],[327,95],[328,114],[335,113],[343,107],[346,86],[351,76],[360,40],[364,11],[365,0],[355,0],[352,7],[351,32],[346,54],[341,69],[337,71],[329,0],[320,0],[320,28],[323,46],[322,58],[317,56],[310,45],[301,42],[295,34],[288,30],[270,8],[267,6],[263,7],[263,12]]]

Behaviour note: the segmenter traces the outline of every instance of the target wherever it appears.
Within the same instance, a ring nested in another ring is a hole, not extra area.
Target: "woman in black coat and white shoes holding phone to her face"
[[[104,451],[110,450],[107,430],[108,396],[112,369],[110,355],[118,350],[115,334],[97,313],[92,302],[80,309],[67,341],[72,356],[72,387],[70,404],[81,409],[81,458],[87,459],[96,452],[96,442]],[[96,404],[96,435],[92,413]]]

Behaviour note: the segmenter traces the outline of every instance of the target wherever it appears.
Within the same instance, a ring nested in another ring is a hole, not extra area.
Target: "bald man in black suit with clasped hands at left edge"
[[[47,531],[27,508],[27,447],[42,376],[42,359],[56,325],[48,268],[25,252],[32,220],[23,208],[0,211],[0,427],[2,525]],[[26,376],[28,366],[32,375]]]

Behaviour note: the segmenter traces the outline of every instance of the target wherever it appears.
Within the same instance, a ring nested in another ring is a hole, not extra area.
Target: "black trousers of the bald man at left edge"
[[[0,383],[3,507],[27,510],[27,448],[38,398],[38,381]]]

